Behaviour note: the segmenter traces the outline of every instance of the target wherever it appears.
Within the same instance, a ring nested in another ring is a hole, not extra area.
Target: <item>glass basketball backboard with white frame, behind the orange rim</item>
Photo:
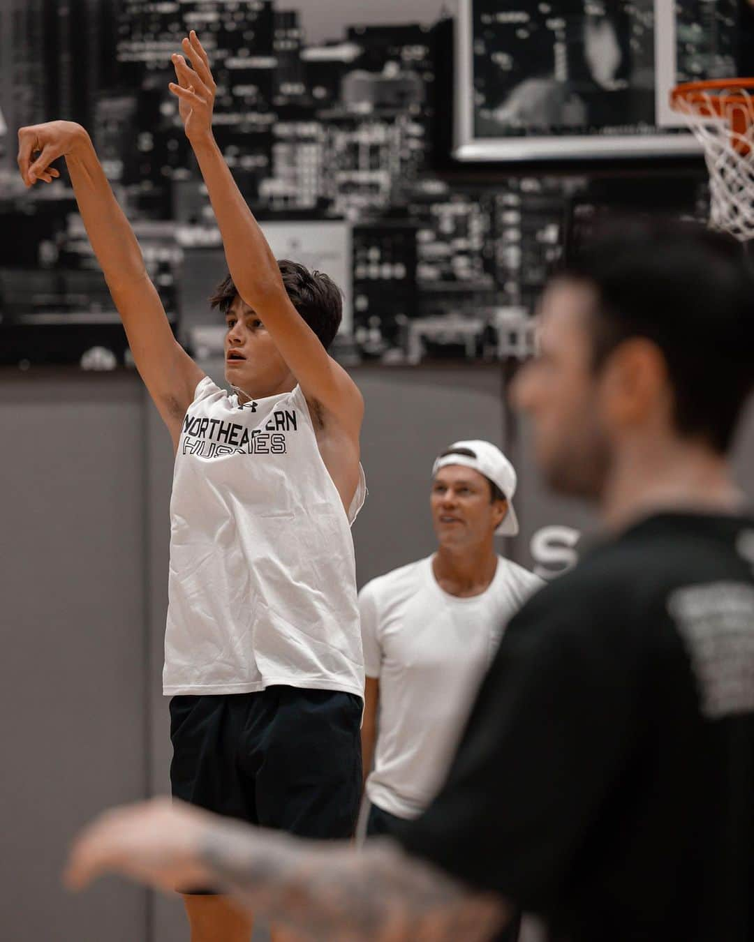
[[[737,73],[739,0],[459,0],[454,156],[698,154],[670,90]]]

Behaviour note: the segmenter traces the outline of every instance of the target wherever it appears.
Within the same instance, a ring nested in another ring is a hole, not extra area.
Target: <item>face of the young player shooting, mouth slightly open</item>
[[[225,379],[250,396],[277,391],[290,371],[261,319],[238,295],[225,315]]]

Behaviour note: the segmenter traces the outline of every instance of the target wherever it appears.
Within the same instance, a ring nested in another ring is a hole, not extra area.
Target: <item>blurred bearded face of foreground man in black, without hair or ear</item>
[[[536,461],[549,486],[597,497],[610,464],[600,378],[592,369],[589,322],[597,298],[587,284],[556,281],[540,303],[539,352],[513,386],[533,424]]]

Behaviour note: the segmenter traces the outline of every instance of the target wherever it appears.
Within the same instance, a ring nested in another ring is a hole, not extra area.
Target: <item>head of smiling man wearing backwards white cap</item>
[[[434,461],[430,509],[437,542],[453,550],[492,546],[518,532],[516,472],[491,442],[454,442]]]

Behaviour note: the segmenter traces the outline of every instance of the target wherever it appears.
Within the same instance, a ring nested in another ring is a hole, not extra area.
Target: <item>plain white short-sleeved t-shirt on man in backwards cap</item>
[[[366,674],[380,680],[370,802],[399,818],[430,804],[505,625],[542,585],[498,557],[484,593],[458,598],[439,587],[429,557],[361,590]]]

